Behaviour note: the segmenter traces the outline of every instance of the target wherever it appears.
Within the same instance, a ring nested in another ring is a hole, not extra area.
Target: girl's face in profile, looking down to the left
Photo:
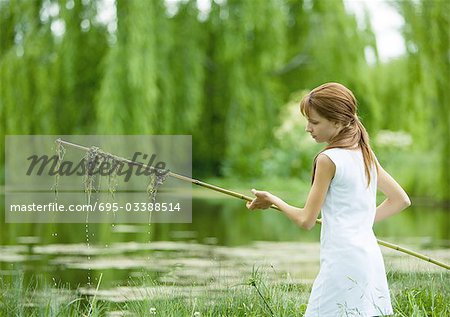
[[[310,110],[307,120],[305,131],[310,133],[317,143],[330,143],[331,139],[341,130],[340,124],[320,116],[314,109]]]

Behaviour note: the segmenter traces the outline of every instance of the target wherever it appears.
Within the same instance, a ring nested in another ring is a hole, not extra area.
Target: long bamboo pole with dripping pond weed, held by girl
[[[74,147],[74,148],[77,148],[77,149],[83,150],[83,151],[89,151],[90,150],[89,147],[86,147],[86,146],[83,146],[83,145],[80,145],[80,144],[76,144],[76,143],[72,143],[72,142],[68,142],[68,141],[64,141],[62,139],[57,139],[56,142],[60,142],[61,144],[68,145],[68,146],[71,146],[71,147]],[[122,157],[117,157],[117,156],[115,156],[113,154],[109,154],[109,153],[106,153],[106,152],[105,152],[105,154],[109,155],[111,157],[115,157],[117,159],[120,159],[121,161],[123,161],[123,162],[125,162],[127,164],[130,164],[130,165],[140,166],[140,167],[143,167],[143,168],[146,168],[146,169],[150,169],[150,170],[152,170],[152,169],[154,170],[155,169],[152,166],[148,166],[148,165],[140,163],[140,162],[135,162],[135,161],[131,161],[131,160],[128,160],[128,159],[125,159],[125,158],[122,158]],[[182,180],[182,181],[190,182],[190,183],[193,183],[195,185],[198,185],[198,186],[201,186],[201,187],[204,187],[204,188],[208,188],[208,189],[211,189],[211,190],[223,193],[225,195],[232,196],[232,197],[235,197],[235,198],[239,198],[239,199],[242,199],[242,200],[245,200],[245,201],[252,201],[253,200],[253,198],[250,197],[250,196],[246,196],[246,195],[243,195],[243,194],[240,194],[240,193],[237,193],[237,192],[234,192],[234,191],[231,191],[229,189],[225,189],[225,188],[222,188],[222,187],[219,187],[219,186],[211,185],[211,184],[202,182],[200,180],[193,179],[193,178],[190,178],[190,177],[187,177],[187,176],[183,176],[183,175],[171,172],[171,171],[169,171],[167,173],[167,176],[174,177],[174,178],[177,178],[177,179]],[[277,206],[275,206],[275,205],[272,205],[270,208],[280,211],[280,209]],[[322,224],[322,220],[321,219],[316,219],[316,223],[317,224]],[[405,254],[414,256],[414,257],[416,257],[418,259],[421,259],[421,260],[433,263],[435,265],[438,265],[438,266],[440,266],[440,267],[442,267],[444,269],[450,270],[450,265],[448,265],[446,263],[443,263],[441,261],[434,260],[434,259],[432,259],[432,258],[430,258],[430,257],[428,257],[426,255],[421,254],[421,253],[412,251],[410,249],[407,249],[407,248],[401,247],[399,245],[396,245],[396,244],[393,244],[393,243],[390,243],[390,242],[387,242],[387,241],[383,241],[383,240],[380,240],[380,239],[377,239],[377,242],[378,242],[379,245],[382,245],[384,247],[387,247],[387,248],[390,248],[390,249],[393,249],[393,250],[396,250],[396,251],[399,251],[399,252],[403,252]]]

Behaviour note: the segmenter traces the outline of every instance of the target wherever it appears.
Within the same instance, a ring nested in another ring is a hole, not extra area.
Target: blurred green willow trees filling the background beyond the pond
[[[192,134],[197,177],[308,180],[292,101],[339,81],[382,163],[449,200],[450,2],[392,5],[407,52],[382,62],[342,0],[1,0],[1,133]]]

